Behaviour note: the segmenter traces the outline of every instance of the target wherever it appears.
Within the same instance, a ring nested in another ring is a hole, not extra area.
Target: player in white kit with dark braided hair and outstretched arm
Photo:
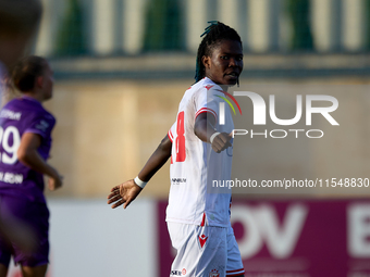
[[[231,193],[208,191],[211,180],[231,179],[230,133],[234,125],[230,110],[224,111],[223,124],[218,118],[221,97],[238,83],[243,71],[242,41],[233,28],[219,22],[205,34],[198,49],[196,84],[186,90],[176,122],[138,176],[112,188],[108,203],[126,207],[171,156],[166,222],[177,254],[170,275],[244,276],[230,224]]]

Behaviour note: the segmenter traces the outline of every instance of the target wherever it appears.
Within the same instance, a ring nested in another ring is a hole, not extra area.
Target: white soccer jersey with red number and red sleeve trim
[[[206,77],[186,90],[180,102],[177,119],[169,130],[172,155],[166,222],[220,227],[229,225],[231,191],[210,189],[213,180],[221,184],[231,179],[233,149],[215,153],[210,143],[202,142],[194,133],[195,119],[200,113],[215,117],[217,131],[233,130],[227,105],[225,124],[219,124],[220,102],[224,102],[220,97],[225,97],[221,87]]]

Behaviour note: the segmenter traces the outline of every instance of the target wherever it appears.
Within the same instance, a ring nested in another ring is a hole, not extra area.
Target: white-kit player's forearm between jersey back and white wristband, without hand
[[[168,136],[161,141],[156,151],[151,154],[138,177],[143,181],[149,179],[165,164],[171,156],[172,142]]]

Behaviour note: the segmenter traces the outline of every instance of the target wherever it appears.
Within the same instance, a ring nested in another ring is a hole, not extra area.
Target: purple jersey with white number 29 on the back
[[[17,160],[17,149],[25,133],[41,137],[38,153],[49,158],[51,130],[55,118],[40,102],[29,97],[13,99],[0,111],[0,194],[26,197],[45,202],[42,174]]]

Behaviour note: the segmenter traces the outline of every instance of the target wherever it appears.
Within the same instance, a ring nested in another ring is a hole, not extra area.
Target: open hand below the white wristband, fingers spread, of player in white
[[[108,196],[108,204],[112,204],[112,209],[115,209],[123,204],[123,209],[126,209],[131,202],[141,192],[143,188],[137,186],[134,179],[127,180],[111,189],[111,193]]]

